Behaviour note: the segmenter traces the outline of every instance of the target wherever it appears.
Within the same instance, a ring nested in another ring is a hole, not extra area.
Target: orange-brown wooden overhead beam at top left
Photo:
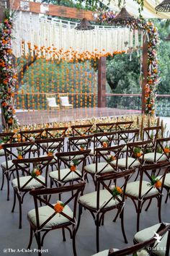
[[[25,8],[22,6],[25,5]],[[20,0],[11,0],[11,8],[23,12],[35,12],[45,13],[48,15],[58,16],[58,17],[67,17],[72,19],[83,19],[84,17],[87,20],[94,20],[93,12],[86,11],[83,9],[71,8],[71,7],[63,7],[54,4],[47,4],[48,11],[44,12],[41,7],[45,6],[45,4],[35,3],[32,1],[20,1]],[[26,8],[29,7],[29,9]]]

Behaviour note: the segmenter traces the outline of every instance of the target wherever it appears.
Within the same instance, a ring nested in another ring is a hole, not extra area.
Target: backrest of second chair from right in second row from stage
[[[139,137],[139,129],[125,129],[117,131],[117,144],[135,142]]]

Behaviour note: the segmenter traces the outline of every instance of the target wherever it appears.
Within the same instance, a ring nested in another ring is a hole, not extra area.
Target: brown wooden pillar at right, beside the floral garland
[[[142,113],[145,113],[146,103],[145,103],[145,87],[147,84],[147,76],[148,76],[148,42],[145,35],[143,35],[143,83],[142,83]]]

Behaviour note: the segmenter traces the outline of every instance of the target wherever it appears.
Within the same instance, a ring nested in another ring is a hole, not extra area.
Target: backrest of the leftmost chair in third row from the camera
[[[9,160],[18,158],[30,158],[33,145],[35,145],[35,142],[19,142],[4,144],[3,148],[5,153],[6,169],[14,168],[14,165],[9,165]],[[20,148],[20,150],[17,150],[18,148]]]

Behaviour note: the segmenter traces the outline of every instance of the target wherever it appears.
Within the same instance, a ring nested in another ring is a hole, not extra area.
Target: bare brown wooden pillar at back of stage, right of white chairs
[[[106,99],[106,57],[98,61],[98,108],[105,108]]]

